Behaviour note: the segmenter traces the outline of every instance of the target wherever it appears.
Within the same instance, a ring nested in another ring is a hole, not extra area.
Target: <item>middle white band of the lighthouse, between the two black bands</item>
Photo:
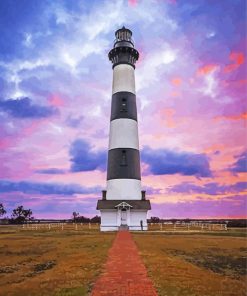
[[[120,118],[111,121],[109,149],[114,148],[139,150],[138,126],[135,120]]]

